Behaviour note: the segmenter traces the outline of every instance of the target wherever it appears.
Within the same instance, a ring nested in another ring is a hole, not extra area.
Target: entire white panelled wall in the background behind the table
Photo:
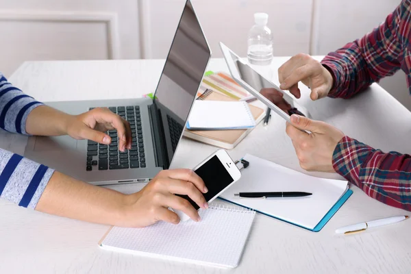
[[[185,0],[0,0],[0,70],[25,60],[165,58]],[[267,12],[275,55],[326,54],[371,31],[400,0],[192,0],[214,57],[247,53]],[[372,7],[372,8],[370,8]],[[411,110],[403,73],[380,83]]]

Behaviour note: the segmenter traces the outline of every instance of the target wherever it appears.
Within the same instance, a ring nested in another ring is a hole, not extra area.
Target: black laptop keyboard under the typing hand
[[[107,132],[112,138],[110,145],[98,144],[88,140],[86,171],[92,171],[93,169],[105,171],[108,169],[145,168],[140,107],[138,105],[129,105],[127,107],[110,107],[109,110],[129,121],[132,129],[132,149],[126,149],[124,152],[119,151],[119,137],[116,130]]]

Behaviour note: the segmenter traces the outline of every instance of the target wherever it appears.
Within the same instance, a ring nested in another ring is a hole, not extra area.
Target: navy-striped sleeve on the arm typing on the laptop
[[[0,73],[0,128],[8,132],[26,134],[29,113],[42,103],[12,86]]]

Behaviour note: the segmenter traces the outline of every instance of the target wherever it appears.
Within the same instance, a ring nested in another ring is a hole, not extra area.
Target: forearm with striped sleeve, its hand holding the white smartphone
[[[92,223],[127,223],[131,195],[92,186],[0,149],[0,198]]]

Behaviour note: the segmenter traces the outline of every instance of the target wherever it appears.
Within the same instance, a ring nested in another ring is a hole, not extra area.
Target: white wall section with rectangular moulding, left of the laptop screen
[[[0,0],[0,70],[25,60],[140,58],[137,0]]]

